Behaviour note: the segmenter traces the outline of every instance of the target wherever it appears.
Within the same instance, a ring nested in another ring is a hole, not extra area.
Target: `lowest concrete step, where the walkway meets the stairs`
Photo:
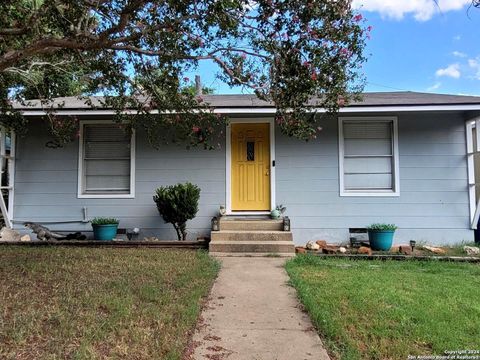
[[[209,251],[211,253],[295,254],[295,246],[292,241],[212,241]]]

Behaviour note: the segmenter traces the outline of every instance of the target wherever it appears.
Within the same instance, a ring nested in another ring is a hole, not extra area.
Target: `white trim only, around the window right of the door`
[[[344,182],[344,139],[343,139],[343,122],[344,121],[361,121],[361,122],[378,122],[391,121],[393,125],[393,190],[345,190]],[[338,118],[338,170],[340,179],[340,196],[400,196],[400,172],[399,172],[399,152],[398,152],[398,118],[396,116],[355,116],[355,117],[339,117]]]

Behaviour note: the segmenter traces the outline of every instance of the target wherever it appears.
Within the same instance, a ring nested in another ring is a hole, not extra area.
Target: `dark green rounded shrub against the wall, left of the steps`
[[[200,188],[189,182],[159,187],[153,196],[158,212],[173,225],[178,240],[186,240],[187,221],[197,215],[199,200]]]

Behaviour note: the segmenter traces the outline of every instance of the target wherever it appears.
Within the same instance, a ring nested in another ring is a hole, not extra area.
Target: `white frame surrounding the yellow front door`
[[[233,211],[232,210],[232,128],[230,124],[268,123],[270,128],[270,209],[275,208],[275,122],[273,118],[235,118],[229,119],[226,131],[225,174],[226,174],[226,211],[228,215],[263,215],[270,211]]]

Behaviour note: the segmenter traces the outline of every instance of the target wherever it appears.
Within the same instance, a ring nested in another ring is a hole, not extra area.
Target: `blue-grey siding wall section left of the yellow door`
[[[32,120],[17,145],[14,218],[17,221],[81,220],[88,217],[120,219],[120,227],[140,227],[142,235],[176,239],[153,202],[158,186],[190,181],[201,188],[197,217],[188,222],[189,238],[209,235],[210,220],[225,203],[225,150],[186,150],[185,146],[152,148],[141,131],[136,134],[136,187],[134,199],[78,199],[78,142],[63,149],[45,147],[47,130]],[[21,227],[20,223],[16,226]],[[47,224],[47,226],[49,226]],[[90,231],[90,224],[52,224],[53,229]]]

